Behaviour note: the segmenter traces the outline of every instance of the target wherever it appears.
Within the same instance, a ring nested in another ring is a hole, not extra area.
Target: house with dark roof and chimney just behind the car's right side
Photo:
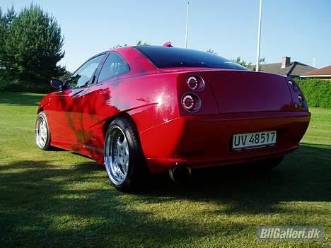
[[[253,66],[253,69],[255,70],[255,66]],[[261,64],[259,71],[297,78],[315,69],[313,66],[308,66],[298,61],[291,62],[290,57],[283,57],[281,63]]]

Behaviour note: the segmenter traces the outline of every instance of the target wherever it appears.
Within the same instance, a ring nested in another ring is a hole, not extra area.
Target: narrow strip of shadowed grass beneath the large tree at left
[[[0,104],[37,106],[43,97],[41,94],[1,92]]]

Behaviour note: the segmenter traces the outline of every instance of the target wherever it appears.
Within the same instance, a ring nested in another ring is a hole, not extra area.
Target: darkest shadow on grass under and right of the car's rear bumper
[[[331,146],[301,144],[269,172],[249,165],[196,170],[184,186],[160,176],[143,194],[226,203],[228,213],[272,213],[281,201],[331,201],[330,169]]]

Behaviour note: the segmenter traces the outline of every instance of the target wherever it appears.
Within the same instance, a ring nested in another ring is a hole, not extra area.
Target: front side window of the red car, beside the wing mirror
[[[95,70],[98,68],[100,61],[105,54],[94,57],[83,64],[79,69],[72,74],[67,83],[74,88],[83,88],[88,85],[88,81],[92,78]]]

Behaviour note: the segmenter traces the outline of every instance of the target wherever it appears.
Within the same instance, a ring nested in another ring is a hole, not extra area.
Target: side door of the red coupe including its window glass
[[[52,136],[59,142],[69,144],[69,149],[84,143],[81,126],[83,96],[104,56],[105,54],[99,54],[86,61],[66,81],[64,89],[52,96],[48,114]]]

